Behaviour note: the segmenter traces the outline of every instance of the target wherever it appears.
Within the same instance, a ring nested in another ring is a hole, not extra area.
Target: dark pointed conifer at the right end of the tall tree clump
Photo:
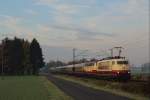
[[[42,49],[36,39],[33,39],[30,45],[30,59],[33,74],[38,74],[39,69],[44,66]]]

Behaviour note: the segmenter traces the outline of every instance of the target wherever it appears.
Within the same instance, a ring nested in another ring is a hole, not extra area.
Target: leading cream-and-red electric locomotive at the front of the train
[[[125,58],[110,58],[97,62],[97,71],[100,76],[128,80],[130,69],[128,60]]]

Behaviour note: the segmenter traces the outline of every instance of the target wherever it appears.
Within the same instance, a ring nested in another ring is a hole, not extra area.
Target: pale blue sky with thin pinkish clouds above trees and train
[[[46,61],[70,59],[67,52],[72,48],[93,53],[123,46],[124,55],[140,64],[148,61],[148,4],[149,0],[0,0],[0,40],[35,37]],[[58,55],[54,48],[64,52]]]

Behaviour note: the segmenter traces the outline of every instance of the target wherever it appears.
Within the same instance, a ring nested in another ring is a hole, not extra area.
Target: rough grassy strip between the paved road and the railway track
[[[74,77],[67,75],[56,75],[55,77],[82,84],[87,87],[111,92],[116,95],[125,96],[134,100],[149,100],[145,94],[145,88],[132,82],[104,81],[93,78]]]

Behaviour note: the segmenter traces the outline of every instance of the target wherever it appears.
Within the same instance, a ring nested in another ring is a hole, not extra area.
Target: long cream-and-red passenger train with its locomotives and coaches
[[[76,75],[91,75],[111,79],[130,79],[130,68],[125,57],[108,57],[94,62],[60,66],[55,72]]]

